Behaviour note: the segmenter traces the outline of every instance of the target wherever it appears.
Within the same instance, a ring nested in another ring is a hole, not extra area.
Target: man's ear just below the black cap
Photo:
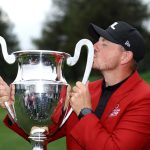
[[[121,64],[126,64],[133,59],[132,51],[124,51],[121,57]]]

